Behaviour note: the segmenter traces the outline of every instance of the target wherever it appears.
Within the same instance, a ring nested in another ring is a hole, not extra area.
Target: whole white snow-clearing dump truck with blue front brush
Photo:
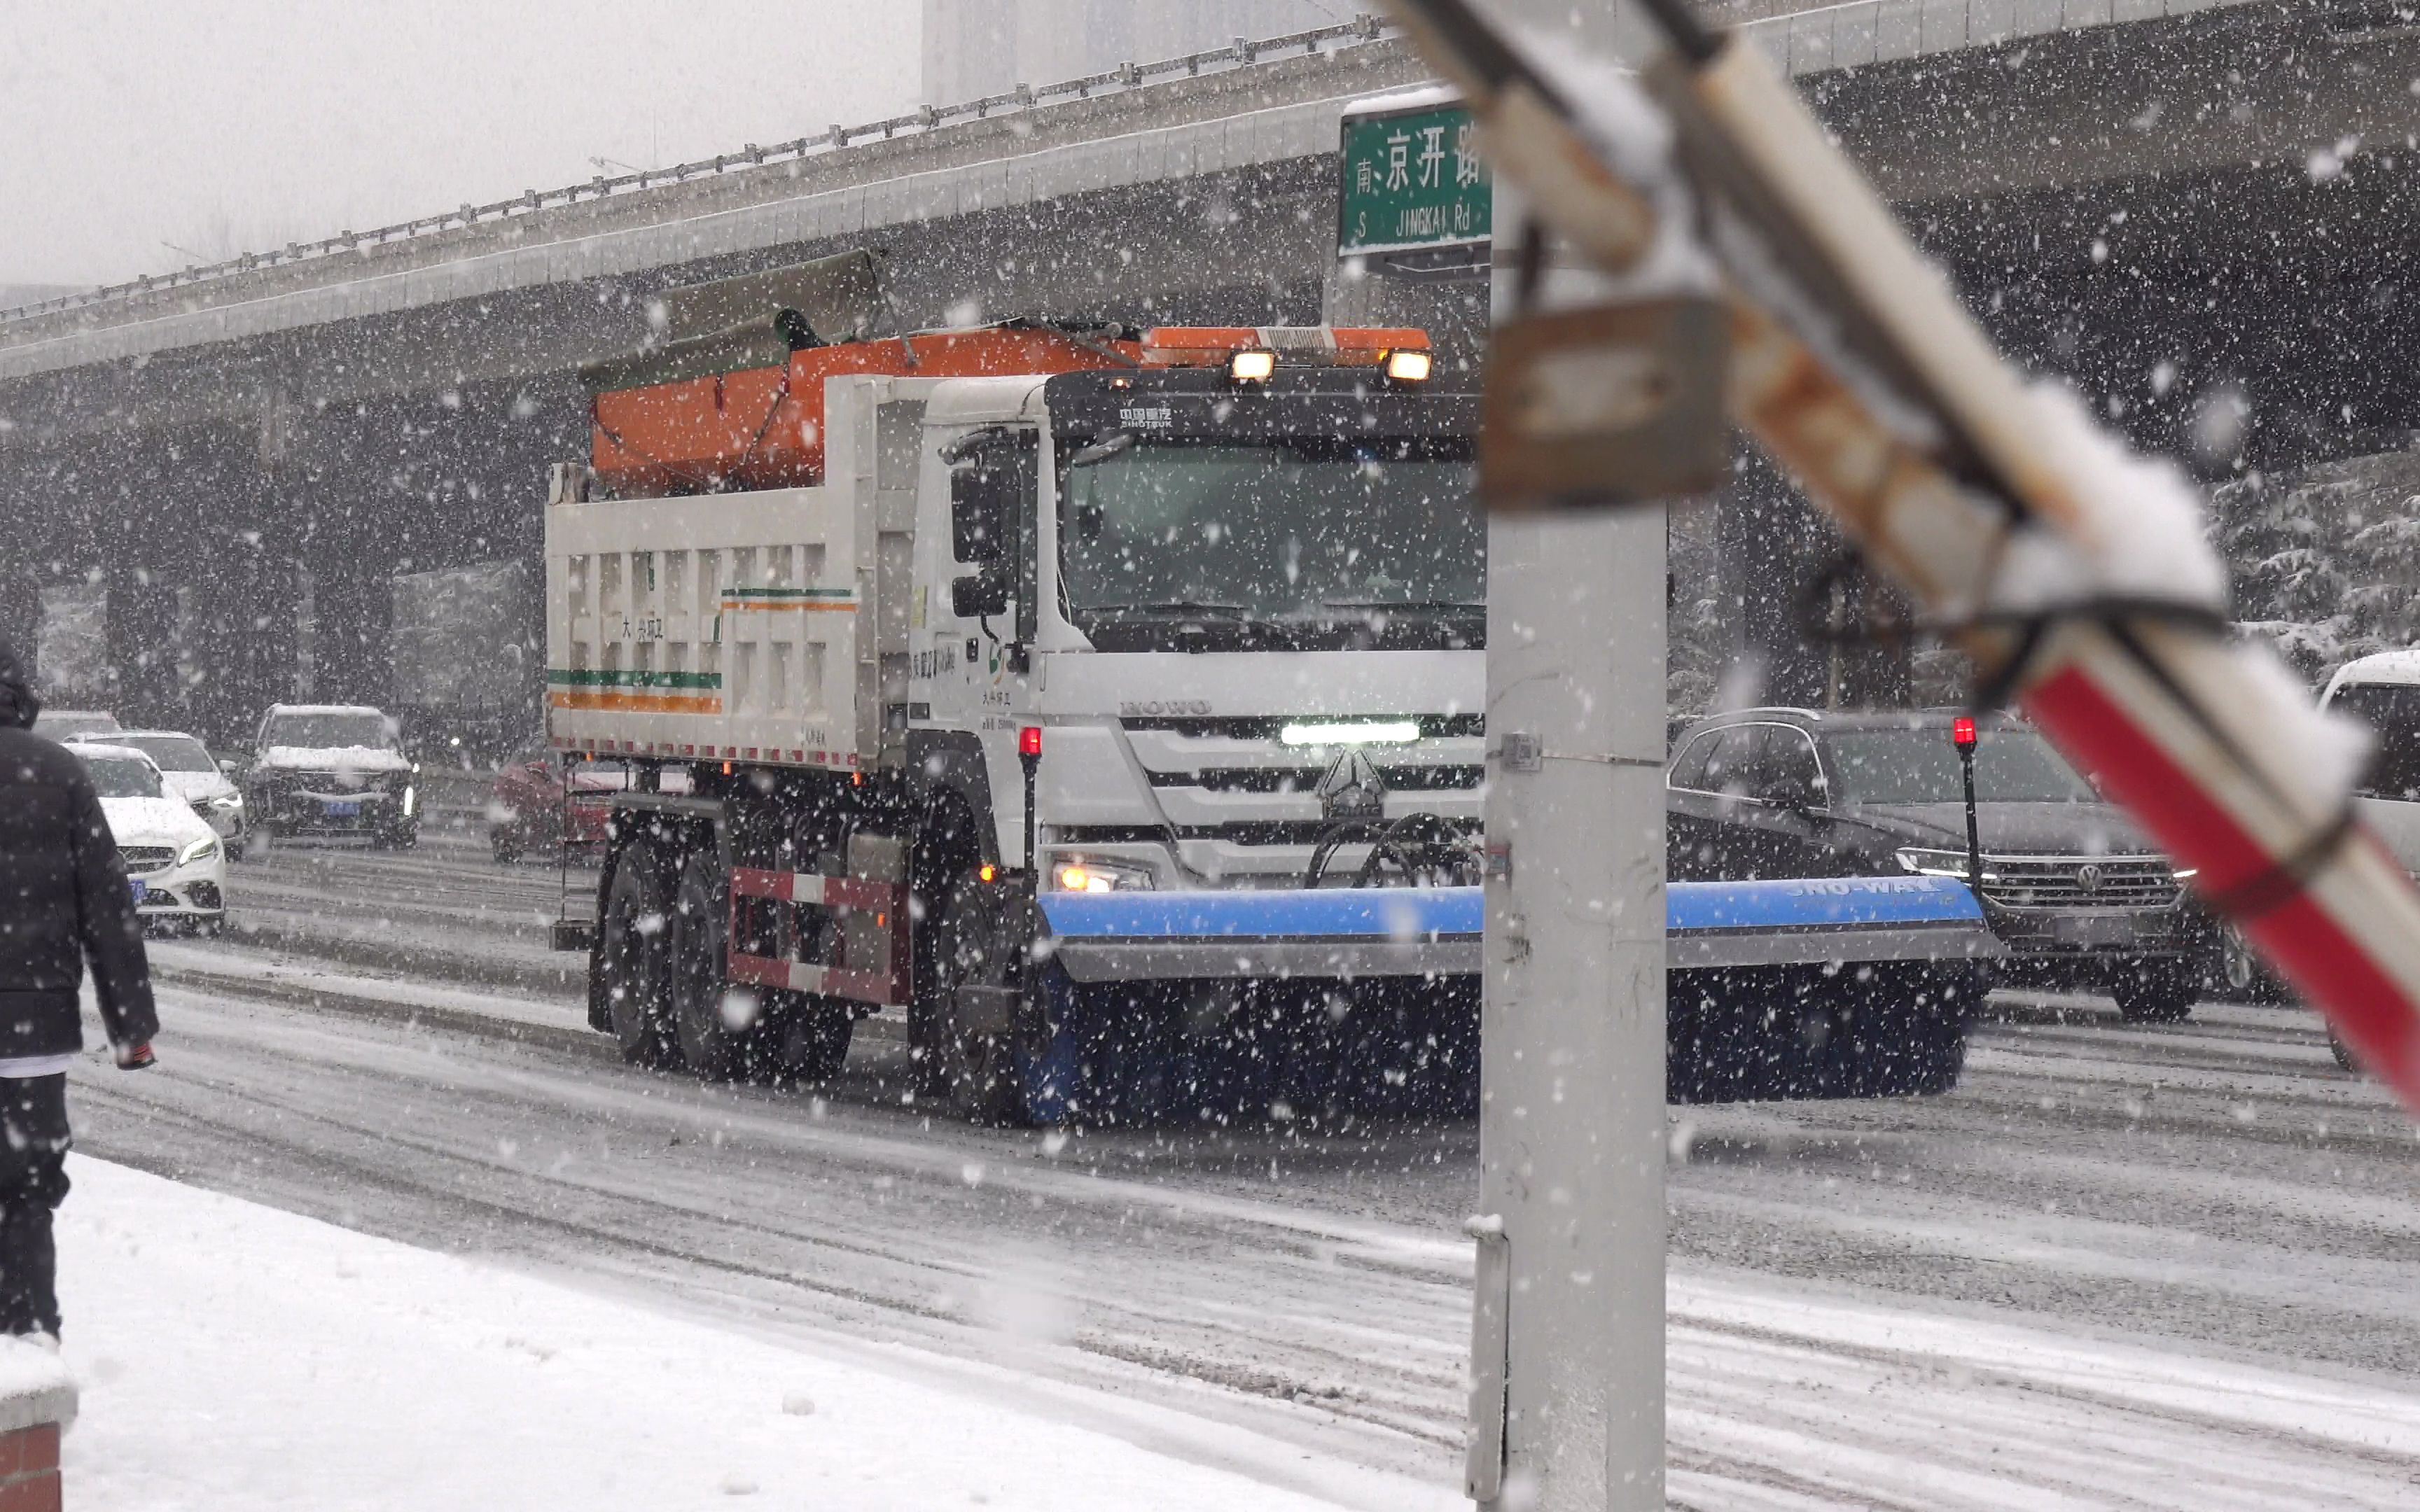
[[[1404,329],[869,339],[876,276],[687,290],[588,373],[590,1023],[816,1081],[900,1009],[915,1096],[1009,1123],[1469,1110],[1476,394]],[[1684,1101],[1943,1091],[1996,953],[1943,878],[1677,883],[1670,941]]]

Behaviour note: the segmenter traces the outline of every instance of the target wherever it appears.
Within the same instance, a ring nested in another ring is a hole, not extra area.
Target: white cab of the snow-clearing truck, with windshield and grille
[[[937,385],[910,767],[1014,774],[1041,726],[1045,890],[1297,888],[1350,752],[1372,818],[1476,835],[1474,428],[1474,397],[1370,368]],[[987,856],[1021,861],[1021,784],[983,789]]]

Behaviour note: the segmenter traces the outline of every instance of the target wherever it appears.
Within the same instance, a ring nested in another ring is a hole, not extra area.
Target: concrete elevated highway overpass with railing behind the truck
[[[1706,10],[1788,65],[2006,341],[2147,440],[2217,385],[2272,448],[2413,423],[2420,375],[2381,341],[2420,140],[2396,5]],[[1471,358],[1476,283],[1333,256],[1346,104],[1423,80],[1365,19],[0,314],[0,602],[97,573],[121,702],[235,728],[293,685],[307,585],[315,692],[378,699],[387,578],[535,556],[542,469],[586,445],[574,370],[646,341],[656,290],[849,247],[891,252],[908,329],[1326,314]],[[1740,573],[1791,556],[1764,503],[1735,510],[1771,525],[1730,532]]]

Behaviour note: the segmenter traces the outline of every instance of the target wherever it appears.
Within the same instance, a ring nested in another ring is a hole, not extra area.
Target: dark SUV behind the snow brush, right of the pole
[[[1747,709],[1689,726],[1667,772],[1675,881],[1967,873],[1953,711]],[[2183,873],[2030,726],[1980,719],[1982,907],[1999,977],[2101,987],[2137,1023],[2200,994]]]

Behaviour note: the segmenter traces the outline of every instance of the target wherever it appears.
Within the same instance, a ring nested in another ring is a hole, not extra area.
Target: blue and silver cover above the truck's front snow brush
[[[1166,977],[1476,975],[1479,888],[1043,893],[1077,982]],[[1670,883],[1675,970],[1830,960],[1980,960],[1999,941],[1965,883],[1938,876]]]

